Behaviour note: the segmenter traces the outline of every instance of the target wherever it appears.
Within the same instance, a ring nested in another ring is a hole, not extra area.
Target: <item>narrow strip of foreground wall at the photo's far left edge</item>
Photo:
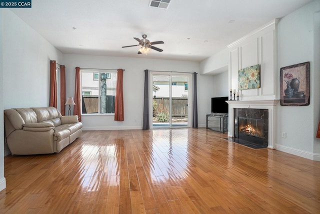
[[[0,8],[0,111],[3,112],[3,9]],[[0,121],[3,121],[3,113],[0,113]],[[0,122],[0,191],[5,188],[4,178],[4,129],[3,122]]]

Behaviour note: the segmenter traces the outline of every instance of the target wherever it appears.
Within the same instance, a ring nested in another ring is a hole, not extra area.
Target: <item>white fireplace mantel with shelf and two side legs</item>
[[[276,105],[278,99],[275,100],[228,100],[229,115],[228,115],[228,136],[234,136],[234,108],[256,108],[268,109],[268,148],[274,148],[275,141],[275,118],[276,118]]]

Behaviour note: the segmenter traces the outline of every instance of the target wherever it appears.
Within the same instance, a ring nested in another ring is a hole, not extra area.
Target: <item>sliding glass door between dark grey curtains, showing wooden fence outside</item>
[[[152,127],[189,126],[189,75],[152,73]]]

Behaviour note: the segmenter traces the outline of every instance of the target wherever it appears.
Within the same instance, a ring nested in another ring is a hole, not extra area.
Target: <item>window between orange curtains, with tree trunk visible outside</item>
[[[81,70],[82,114],[114,114],[115,86],[116,71]]]

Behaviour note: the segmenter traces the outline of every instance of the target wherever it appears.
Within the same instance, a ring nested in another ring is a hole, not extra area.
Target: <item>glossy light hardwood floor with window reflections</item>
[[[57,154],[5,156],[0,213],[320,213],[320,162],[224,137],[84,131]]]

